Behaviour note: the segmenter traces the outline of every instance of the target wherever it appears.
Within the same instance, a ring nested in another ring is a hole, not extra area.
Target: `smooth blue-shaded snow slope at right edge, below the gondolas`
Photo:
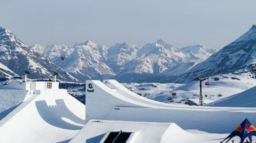
[[[206,106],[256,107],[256,86],[242,93],[211,102]]]

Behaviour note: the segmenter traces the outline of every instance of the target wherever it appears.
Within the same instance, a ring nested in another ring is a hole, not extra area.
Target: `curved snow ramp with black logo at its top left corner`
[[[99,80],[87,80],[86,83],[86,122],[92,119],[104,120],[115,105],[141,108],[156,107],[118,94],[116,90],[110,89]]]

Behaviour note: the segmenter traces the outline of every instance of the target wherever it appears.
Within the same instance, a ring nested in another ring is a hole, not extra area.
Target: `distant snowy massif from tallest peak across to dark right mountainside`
[[[202,44],[178,49],[160,39],[139,49],[136,59],[127,63],[116,78],[122,82],[172,82],[174,76],[185,73],[216,51]]]

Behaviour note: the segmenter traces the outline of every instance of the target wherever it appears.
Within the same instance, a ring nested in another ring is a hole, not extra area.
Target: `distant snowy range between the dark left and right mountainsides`
[[[217,51],[202,44],[178,49],[161,39],[143,47],[123,42],[108,48],[86,41],[70,46],[36,44],[30,49],[79,80],[113,77],[121,82],[159,82],[152,77],[180,75]]]

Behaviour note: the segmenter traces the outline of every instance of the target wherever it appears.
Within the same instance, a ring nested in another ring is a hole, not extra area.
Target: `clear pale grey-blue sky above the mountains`
[[[1,0],[0,26],[28,45],[143,46],[163,39],[176,47],[222,48],[256,23],[256,1]]]

